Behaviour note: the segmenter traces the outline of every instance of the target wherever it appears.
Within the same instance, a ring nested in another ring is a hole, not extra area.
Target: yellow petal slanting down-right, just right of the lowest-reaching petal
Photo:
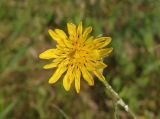
[[[80,67],[80,70],[81,70],[81,72],[82,72],[82,75],[83,75],[84,80],[86,80],[90,86],[93,86],[93,85],[94,85],[93,77],[92,77],[92,76],[90,75],[90,73],[87,71],[86,67],[81,66],[81,67]]]

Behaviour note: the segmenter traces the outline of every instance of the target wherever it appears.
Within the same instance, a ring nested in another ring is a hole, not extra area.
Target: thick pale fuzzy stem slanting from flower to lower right
[[[108,82],[106,80],[101,82],[105,85],[107,90],[112,94],[113,98],[116,100],[117,105],[122,106],[125,109],[125,111],[128,112],[133,117],[133,119],[137,119],[136,115],[131,111],[131,109],[123,101],[123,99],[118,95],[118,93],[113,90],[113,88],[108,84]]]

